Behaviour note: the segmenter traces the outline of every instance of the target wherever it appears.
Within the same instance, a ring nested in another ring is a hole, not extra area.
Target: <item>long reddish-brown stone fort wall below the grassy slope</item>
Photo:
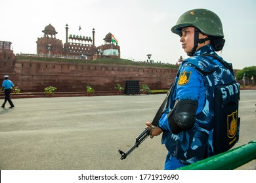
[[[115,91],[116,84],[139,80],[151,90],[168,89],[177,69],[104,65],[53,61],[0,60],[0,75],[9,75],[22,92],[43,92],[55,86],[57,92],[85,92],[89,85],[97,92]],[[3,78],[0,78],[0,82]]]

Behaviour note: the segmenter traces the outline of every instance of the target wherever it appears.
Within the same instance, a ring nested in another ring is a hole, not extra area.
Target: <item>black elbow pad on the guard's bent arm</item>
[[[177,134],[182,130],[190,129],[196,122],[198,101],[181,100],[168,114],[168,124],[172,133]]]

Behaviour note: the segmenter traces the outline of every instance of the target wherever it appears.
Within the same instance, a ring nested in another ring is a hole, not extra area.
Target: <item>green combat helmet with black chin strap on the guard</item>
[[[224,46],[223,25],[217,14],[207,9],[188,10],[181,15],[171,31],[181,37],[182,27],[188,26],[195,27],[201,33],[208,35],[216,51],[222,50]],[[198,46],[198,37],[195,37],[195,46]],[[192,51],[192,54],[194,54],[194,51]]]

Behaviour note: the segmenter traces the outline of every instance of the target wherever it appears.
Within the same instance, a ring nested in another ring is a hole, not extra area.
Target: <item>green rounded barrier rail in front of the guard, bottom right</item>
[[[256,141],[203,159],[177,170],[234,170],[256,159]]]

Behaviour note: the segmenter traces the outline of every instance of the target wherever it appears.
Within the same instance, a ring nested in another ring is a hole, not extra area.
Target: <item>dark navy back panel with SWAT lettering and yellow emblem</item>
[[[238,103],[240,85],[233,81],[230,84],[215,87],[215,127],[213,131],[213,152],[219,154],[229,150],[238,142],[240,118]]]

